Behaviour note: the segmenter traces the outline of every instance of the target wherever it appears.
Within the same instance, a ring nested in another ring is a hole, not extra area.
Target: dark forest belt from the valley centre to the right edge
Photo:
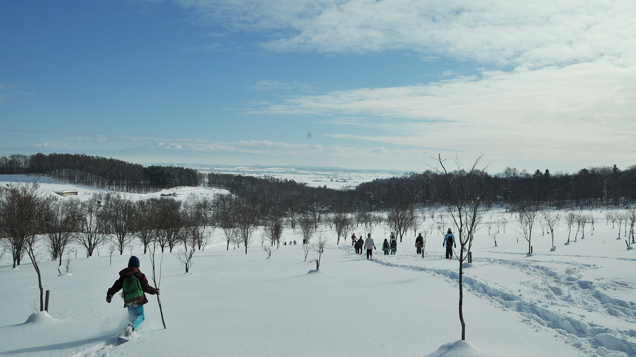
[[[452,175],[465,172],[454,172]],[[487,205],[517,206],[533,202],[563,207],[626,206],[636,201],[636,166],[620,170],[616,165],[583,168],[576,173],[552,174],[536,170],[530,174],[506,168],[495,175],[483,175]],[[448,184],[443,173],[427,170],[403,177],[375,179],[354,189],[308,187],[294,180],[256,178],[210,173],[210,185],[228,189],[247,201],[289,209],[308,210],[327,206],[344,212],[387,210],[397,201],[417,206],[439,205],[448,201]]]

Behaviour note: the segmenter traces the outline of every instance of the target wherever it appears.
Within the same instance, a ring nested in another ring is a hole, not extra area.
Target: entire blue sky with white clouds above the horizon
[[[636,164],[632,1],[0,2],[0,155]]]

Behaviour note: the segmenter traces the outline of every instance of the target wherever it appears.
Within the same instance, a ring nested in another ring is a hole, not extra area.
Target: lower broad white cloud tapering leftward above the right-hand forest
[[[636,65],[614,62],[335,91],[289,98],[262,112],[338,116],[329,123],[350,116],[356,125],[366,118],[367,126],[382,133],[332,135],[336,138],[505,153],[514,159],[574,160],[583,166],[608,159],[628,162],[636,154]]]

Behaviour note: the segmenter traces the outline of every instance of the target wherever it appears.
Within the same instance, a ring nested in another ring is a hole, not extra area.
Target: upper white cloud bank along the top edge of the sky
[[[198,18],[263,32],[277,51],[389,49],[482,63],[567,65],[633,54],[630,0],[182,0]]]

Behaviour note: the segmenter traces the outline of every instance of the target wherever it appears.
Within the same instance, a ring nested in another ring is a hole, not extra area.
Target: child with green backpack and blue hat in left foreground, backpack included
[[[148,302],[148,298],[146,298],[145,293],[159,295],[159,289],[148,285],[146,275],[139,271],[139,258],[134,255],[128,260],[128,267],[120,271],[119,275],[119,279],[114,282],[106,293],[106,302],[110,304],[111,300],[113,300],[113,295],[123,289],[124,307],[128,308],[128,314],[130,315],[130,323],[124,330],[123,335],[128,337],[146,318],[144,304]],[[141,289],[141,292],[139,289]]]

